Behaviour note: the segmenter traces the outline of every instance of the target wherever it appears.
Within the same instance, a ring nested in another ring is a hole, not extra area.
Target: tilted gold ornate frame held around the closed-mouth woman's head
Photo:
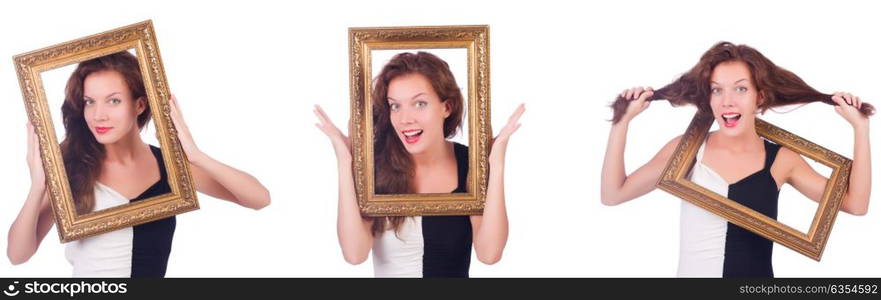
[[[59,146],[59,138],[63,137],[57,136],[55,131],[55,126],[62,124],[53,124],[41,74],[122,51],[130,51],[137,57],[171,193],[78,214],[67,176],[68,171],[76,170],[65,170]],[[150,20],[16,55],[13,61],[28,119],[39,140],[47,193],[62,243],[199,208],[189,163],[169,115],[170,94]]]

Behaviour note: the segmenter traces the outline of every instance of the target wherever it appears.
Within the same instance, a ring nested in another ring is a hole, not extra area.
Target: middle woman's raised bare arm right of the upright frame
[[[521,104],[508,119],[508,123],[493,140],[489,155],[489,186],[483,215],[471,216],[474,251],[477,259],[491,265],[502,259],[508,242],[508,213],[505,208],[505,152],[511,135],[520,128],[520,116],[525,107]]]

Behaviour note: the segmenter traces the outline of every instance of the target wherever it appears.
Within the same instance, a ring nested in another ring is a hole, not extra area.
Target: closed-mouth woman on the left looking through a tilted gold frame
[[[269,205],[269,192],[257,179],[196,146],[174,96],[170,107],[196,190],[253,209]],[[171,192],[159,148],[141,140],[151,112],[134,55],[124,51],[80,63],[61,110],[66,133],[61,152],[79,214]],[[28,133],[31,189],[9,229],[13,264],[30,259],[54,223],[31,123]],[[172,216],[88,237],[67,243],[65,256],[76,277],[164,277],[174,228]]]

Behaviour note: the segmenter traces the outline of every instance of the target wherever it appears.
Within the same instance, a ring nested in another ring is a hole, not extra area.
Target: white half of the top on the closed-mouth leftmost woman
[[[95,182],[95,211],[128,203],[128,198]],[[133,238],[132,227],[126,227],[67,243],[64,255],[73,266],[73,277],[130,277]]]

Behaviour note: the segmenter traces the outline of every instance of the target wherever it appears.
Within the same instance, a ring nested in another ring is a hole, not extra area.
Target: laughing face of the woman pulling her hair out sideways
[[[721,63],[710,75],[710,107],[719,131],[725,135],[754,131],[762,95],[751,78],[749,67],[742,61]]]

